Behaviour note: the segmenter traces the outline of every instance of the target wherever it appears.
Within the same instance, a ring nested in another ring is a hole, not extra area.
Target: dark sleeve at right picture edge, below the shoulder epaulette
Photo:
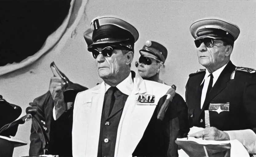
[[[256,133],[256,74],[250,74],[244,88],[243,105],[247,126]]]

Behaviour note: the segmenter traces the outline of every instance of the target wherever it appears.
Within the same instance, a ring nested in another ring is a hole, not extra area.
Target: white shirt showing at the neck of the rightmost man
[[[212,73],[212,75],[213,75],[212,87],[216,83],[217,79],[220,76],[220,73],[223,71],[223,69],[226,67],[226,65],[227,64],[225,64],[223,67],[219,68],[218,70],[216,70]],[[205,73],[204,79],[202,80],[201,85],[203,84],[203,82],[204,82],[204,86],[203,86],[202,95],[201,95],[201,109],[203,107],[205,97],[206,97],[206,92],[207,92],[208,85],[209,85],[209,82],[210,82],[210,73],[207,69],[206,69],[206,73]]]

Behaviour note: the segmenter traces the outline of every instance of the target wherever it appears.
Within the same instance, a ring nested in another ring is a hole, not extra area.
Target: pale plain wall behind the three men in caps
[[[231,61],[237,66],[256,68],[255,8],[256,1],[91,0],[76,36],[70,38],[63,48],[54,49],[36,63],[0,76],[0,94],[8,102],[21,106],[22,115],[25,115],[29,102],[47,92],[52,77],[52,61],[73,82],[89,88],[102,82],[94,59],[87,51],[83,32],[94,17],[116,15],[139,31],[132,70],[136,71],[134,62],[138,60],[138,51],[146,40],[162,43],[168,49],[168,56],[165,73],[161,77],[167,84],[175,84],[177,92],[185,98],[188,75],[203,68],[198,63],[190,25],[198,19],[216,16],[238,25],[241,33],[234,44]],[[15,137],[27,141],[28,145],[15,148],[14,157],[28,155],[30,128],[31,121],[19,126]]]

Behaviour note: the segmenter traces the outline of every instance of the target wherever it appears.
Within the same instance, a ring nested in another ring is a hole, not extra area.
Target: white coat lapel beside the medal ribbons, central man
[[[127,98],[118,126],[115,157],[131,156],[157,105],[137,105],[138,94],[147,93],[144,80],[136,74],[131,95]],[[119,141],[118,141],[119,139]]]

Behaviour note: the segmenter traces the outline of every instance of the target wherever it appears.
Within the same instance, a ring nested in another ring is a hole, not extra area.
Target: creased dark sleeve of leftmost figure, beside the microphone
[[[32,118],[32,124],[31,124],[31,130],[30,130],[30,148],[29,148],[29,155],[30,156],[38,156],[42,155],[44,153],[43,151],[43,133],[40,130],[40,127],[38,125],[38,122],[35,120],[35,117],[37,117],[40,121],[46,121],[45,120],[45,113],[44,108],[47,103],[50,103],[51,95],[48,91],[46,94],[35,98],[32,103],[30,103],[31,106],[36,106],[38,109],[38,112],[36,115]],[[52,101],[51,101],[52,102]]]

